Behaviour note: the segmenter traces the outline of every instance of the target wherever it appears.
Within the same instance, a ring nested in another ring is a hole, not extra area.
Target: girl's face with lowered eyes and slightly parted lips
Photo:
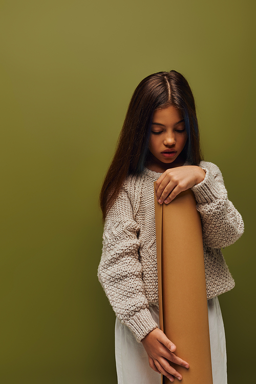
[[[150,167],[156,172],[164,172],[168,168],[181,165],[182,159],[179,157],[187,140],[185,122],[179,109],[168,106],[157,109],[153,115],[151,128]]]

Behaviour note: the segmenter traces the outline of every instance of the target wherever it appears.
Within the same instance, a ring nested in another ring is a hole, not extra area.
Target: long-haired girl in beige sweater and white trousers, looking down
[[[156,191],[154,191],[154,181]],[[226,384],[226,347],[218,295],[234,287],[221,248],[243,233],[219,168],[202,161],[194,97],[176,71],[147,76],[136,88],[100,201],[105,220],[98,277],[117,315],[118,384],[182,379],[169,361],[189,368],[158,328],[154,193],[169,204],[188,188],[201,214],[212,375]],[[195,346],[195,349],[197,346]]]

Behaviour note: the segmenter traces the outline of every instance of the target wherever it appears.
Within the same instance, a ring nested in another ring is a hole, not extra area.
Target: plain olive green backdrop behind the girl
[[[220,301],[229,384],[254,381],[254,4],[0,2],[1,383],[116,383],[98,194],[135,87],[170,69],[245,221]]]

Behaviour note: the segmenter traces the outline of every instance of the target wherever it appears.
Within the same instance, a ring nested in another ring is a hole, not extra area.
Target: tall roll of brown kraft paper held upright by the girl
[[[170,365],[183,384],[212,384],[202,226],[193,192],[167,205],[155,199],[155,214],[160,329],[189,369]],[[170,382],[162,376],[162,384]]]

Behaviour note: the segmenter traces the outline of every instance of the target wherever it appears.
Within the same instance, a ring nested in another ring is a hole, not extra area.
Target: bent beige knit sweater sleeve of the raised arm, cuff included
[[[228,200],[220,169],[205,161],[200,167],[205,171],[205,178],[191,190],[202,219],[204,244],[212,248],[227,247],[243,234],[243,219]]]

